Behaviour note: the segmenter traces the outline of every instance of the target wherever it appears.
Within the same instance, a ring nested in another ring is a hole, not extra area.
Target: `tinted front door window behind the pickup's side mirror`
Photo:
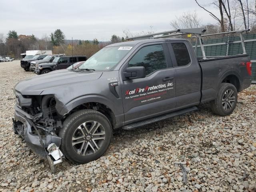
[[[162,45],[151,45],[141,48],[129,61],[128,67],[143,66],[146,75],[167,68]]]

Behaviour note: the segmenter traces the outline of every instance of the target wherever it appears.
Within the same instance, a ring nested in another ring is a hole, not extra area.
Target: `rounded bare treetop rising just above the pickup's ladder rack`
[[[174,29],[198,28],[202,26],[202,19],[198,18],[196,12],[184,12],[181,16],[175,16],[170,25]]]

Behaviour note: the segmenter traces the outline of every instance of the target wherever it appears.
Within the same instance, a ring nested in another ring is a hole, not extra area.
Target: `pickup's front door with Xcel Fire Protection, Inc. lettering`
[[[128,80],[121,74],[125,124],[174,110],[176,78],[167,44],[158,42],[140,46],[121,73],[132,66],[144,66],[146,77]]]

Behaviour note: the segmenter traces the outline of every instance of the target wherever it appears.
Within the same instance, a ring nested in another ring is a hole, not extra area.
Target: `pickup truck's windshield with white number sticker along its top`
[[[126,54],[132,49],[132,46],[114,46],[105,47],[91,56],[80,69],[111,70]]]

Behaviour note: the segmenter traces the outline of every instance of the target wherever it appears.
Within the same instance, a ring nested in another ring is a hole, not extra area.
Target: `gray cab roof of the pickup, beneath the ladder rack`
[[[113,46],[122,46],[122,45],[137,45],[137,44],[144,44],[144,43],[152,43],[152,42],[162,42],[162,41],[180,41],[186,40],[183,38],[158,38],[158,39],[142,39],[142,40],[134,40],[134,41],[126,41],[120,43],[110,44],[106,47],[113,47]]]

